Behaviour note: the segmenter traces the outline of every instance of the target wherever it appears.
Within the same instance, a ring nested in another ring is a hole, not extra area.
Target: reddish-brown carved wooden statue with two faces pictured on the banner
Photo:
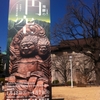
[[[50,59],[50,42],[44,28],[26,24],[10,44],[5,100],[49,100]]]

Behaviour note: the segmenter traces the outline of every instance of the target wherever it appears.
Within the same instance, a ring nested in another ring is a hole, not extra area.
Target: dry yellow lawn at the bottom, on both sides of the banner
[[[4,93],[0,93],[3,100]],[[100,87],[53,87],[53,98],[64,98],[64,100],[100,100]]]

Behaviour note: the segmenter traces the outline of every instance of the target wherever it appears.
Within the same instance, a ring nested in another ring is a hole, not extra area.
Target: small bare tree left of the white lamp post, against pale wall
[[[60,76],[62,83],[65,85],[70,75],[69,59],[68,56],[56,56],[52,57],[52,70],[55,70],[57,76]]]

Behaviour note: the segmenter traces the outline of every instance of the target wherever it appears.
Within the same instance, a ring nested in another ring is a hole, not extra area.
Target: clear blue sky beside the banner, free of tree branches
[[[66,13],[67,0],[50,0],[51,28]],[[6,51],[8,36],[9,0],[0,0],[0,47],[1,52]]]

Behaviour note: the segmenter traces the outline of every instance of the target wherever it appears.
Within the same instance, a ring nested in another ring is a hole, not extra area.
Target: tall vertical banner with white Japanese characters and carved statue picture
[[[10,0],[5,100],[51,100],[50,0]]]

